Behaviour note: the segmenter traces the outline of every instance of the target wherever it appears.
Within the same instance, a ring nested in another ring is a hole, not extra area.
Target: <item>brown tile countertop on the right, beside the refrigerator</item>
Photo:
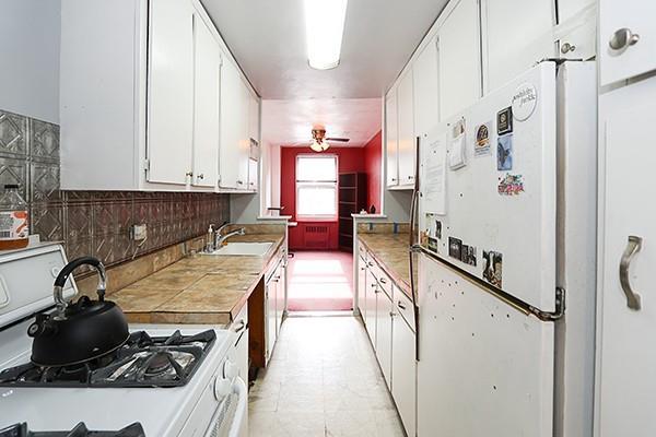
[[[359,233],[358,238],[398,287],[411,298],[408,233]],[[413,275],[417,277],[417,265]]]

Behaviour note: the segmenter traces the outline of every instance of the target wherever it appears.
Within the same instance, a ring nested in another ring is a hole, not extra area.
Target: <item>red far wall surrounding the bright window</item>
[[[282,214],[291,215],[293,222],[296,221],[296,155],[314,153],[316,152],[309,147],[281,147],[280,150],[280,204],[284,206]],[[338,156],[338,173],[365,170],[364,147],[330,147],[323,153]],[[298,222],[298,226],[290,227],[290,249],[305,249],[303,233],[306,223],[327,225],[330,228],[329,248],[337,250],[339,246],[337,221]]]

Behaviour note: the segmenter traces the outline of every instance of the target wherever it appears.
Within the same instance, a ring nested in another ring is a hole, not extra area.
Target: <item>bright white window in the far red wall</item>
[[[337,156],[296,156],[296,218],[337,220]]]

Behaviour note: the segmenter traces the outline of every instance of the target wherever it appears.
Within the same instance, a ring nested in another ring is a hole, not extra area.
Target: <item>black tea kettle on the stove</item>
[[[81,296],[77,303],[63,298],[63,285],[80,265],[91,265],[98,273],[98,299]],[[108,354],[129,338],[128,322],[120,308],[105,300],[107,279],[105,267],[93,257],[69,262],[55,280],[54,295],[57,309],[42,314],[27,329],[34,338],[32,363],[44,367],[71,366]]]

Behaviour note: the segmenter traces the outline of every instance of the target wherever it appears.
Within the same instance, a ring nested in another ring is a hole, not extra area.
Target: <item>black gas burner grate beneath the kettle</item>
[[[139,331],[117,351],[80,365],[27,363],[2,370],[0,387],[179,387],[189,381],[215,339],[213,330],[155,338]]]

